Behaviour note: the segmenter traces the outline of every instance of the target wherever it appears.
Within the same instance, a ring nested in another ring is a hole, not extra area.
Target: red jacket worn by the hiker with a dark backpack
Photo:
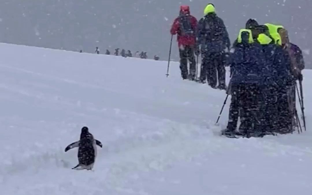
[[[191,28],[193,29],[193,35],[183,34],[181,18],[186,17],[186,19],[190,22]],[[197,19],[192,15],[179,16],[177,17],[173,25],[170,29],[170,33],[172,35],[177,36],[178,46],[195,46],[196,44],[196,29],[197,29]]]

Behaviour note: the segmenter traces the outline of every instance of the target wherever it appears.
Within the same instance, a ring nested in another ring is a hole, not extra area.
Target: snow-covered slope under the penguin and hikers
[[[216,135],[225,92],[182,81],[178,63],[0,44],[3,195],[310,195],[307,132]],[[309,76],[310,75],[310,76]],[[103,143],[93,171],[71,170],[87,125]]]

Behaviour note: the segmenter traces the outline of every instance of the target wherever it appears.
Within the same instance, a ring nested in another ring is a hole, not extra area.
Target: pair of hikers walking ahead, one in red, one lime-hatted
[[[225,90],[225,65],[230,39],[223,20],[215,12],[214,5],[210,3],[205,7],[204,17],[199,22],[190,15],[189,6],[181,6],[180,14],[174,20],[170,33],[178,35],[182,78],[196,79],[195,55],[198,59],[201,54],[199,81],[202,83],[207,81],[212,88]]]

